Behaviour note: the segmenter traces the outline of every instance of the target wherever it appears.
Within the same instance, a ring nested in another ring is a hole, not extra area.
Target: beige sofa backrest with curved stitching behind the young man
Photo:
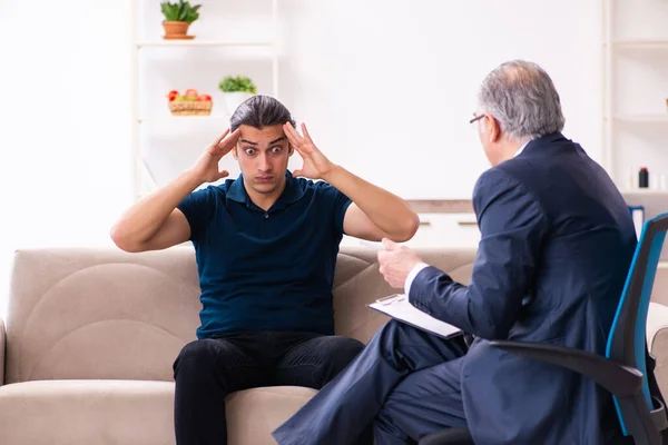
[[[419,254],[465,281],[475,250]],[[396,291],[379,273],[375,249],[342,248],[333,289],[336,333],[366,343],[387,318],[365,305]],[[7,383],[173,382],[171,364],[195,339],[202,308],[191,246],[143,254],[18,250],[10,293]]]

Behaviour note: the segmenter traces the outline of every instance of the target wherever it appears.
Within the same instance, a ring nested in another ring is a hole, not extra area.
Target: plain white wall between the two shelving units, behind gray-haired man
[[[327,155],[406,198],[468,198],[487,168],[468,119],[498,63],[543,66],[566,135],[601,144],[598,0],[283,0],[282,96]]]

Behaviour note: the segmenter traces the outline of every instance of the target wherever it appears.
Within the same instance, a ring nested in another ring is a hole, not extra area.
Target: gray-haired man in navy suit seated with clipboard
[[[473,191],[481,241],[470,283],[389,240],[379,253],[381,273],[411,304],[469,335],[387,323],[274,432],[281,445],[360,443],[371,427],[379,445],[448,427],[468,427],[482,445],[601,444],[618,434],[612,398],[591,379],[489,340],[605,354],[637,243],[627,205],[561,134],[559,95],[537,65],[494,69],[471,123],[492,168]]]

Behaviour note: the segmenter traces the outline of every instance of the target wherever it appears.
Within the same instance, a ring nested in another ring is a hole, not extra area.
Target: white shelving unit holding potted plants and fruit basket
[[[278,97],[278,0],[253,4],[240,0],[191,0],[191,3],[203,4],[199,19],[188,31],[195,38],[165,40],[159,2],[132,2],[135,199],[190,167],[206,145],[227,127],[230,112],[217,89],[217,81],[224,76],[248,76],[257,85],[258,93]],[[244,22],[258,17],[264,21]],[[171,89],[183,93],[187,88],[214,97],[210,116],[169,113],[165,93]],[[233,175],[234,167],[222,166]]]

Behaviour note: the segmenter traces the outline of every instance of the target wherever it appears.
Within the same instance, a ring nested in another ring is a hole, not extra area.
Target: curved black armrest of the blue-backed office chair
[[[642,373],[598,354],[541,343],[493,340],[490,346],[561,366],[593,379],[618,397],[640,393]]]

